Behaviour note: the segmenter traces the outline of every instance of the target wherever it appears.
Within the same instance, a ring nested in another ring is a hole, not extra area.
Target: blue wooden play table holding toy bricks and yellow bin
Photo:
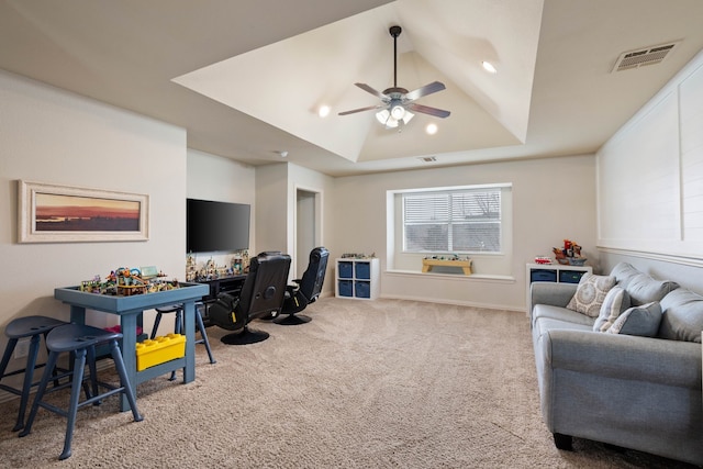
[[[183,383],[196,379],[196,301],[210,293],[207,284],[180,283],[180,288],[156,293],[135,294],[132,297],[112,297],[80,291],[79,287],[57,288],[54,298],[70,304],[70,322],[85,324],[86,310],[102,311],[118,314],[122,327],[122,357],[127,370],[127,377],[136,392],[137,384],[146,380],[166,375],[178,368],[183,369]],[[186,356],[165,364],[136,370],[136,326],[144,310],[183,304],[183,322],[186,333]],[[124,394],[121,395],[120,410],[129,411],[130,403]]]

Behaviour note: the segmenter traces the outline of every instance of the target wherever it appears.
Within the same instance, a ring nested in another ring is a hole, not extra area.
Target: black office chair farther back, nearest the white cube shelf
[[[303,272],[301,279],[294,279],[295,284],[289,284],[286,288],[286,299],[283,300],[283,309],[281,314],[274,322],[282,325],[305,324],[312,321],[310,316],[297,314],[308,308],[320,297],[322,283],[325,281],[325,271],[327,269],[327,258],[330,252],[325,247],[315,247],[310,252],[310,261],[308,269]]]

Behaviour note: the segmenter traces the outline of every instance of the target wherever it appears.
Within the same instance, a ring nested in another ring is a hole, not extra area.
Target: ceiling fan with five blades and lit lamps
[[[383,92],[379,92],[366,83],[354,83],[361,88],[364,91],[380,98],[382,104],[368,105],[366,108],[353,109],[350,111],[339,112],[338,115],[354,114],[356,112],[370,111],[380,109],[376,113],[376,119],[386,129],[394,129],[399,125],[404,125],[415,115],[411,111],[421,112],[423,114],[434,115],[435,118],[447,118],[449,111],[443,109],[431,108],[428,105],[417,104],[415,100],[432,94],[437,91],[444,90],[446,87],[439,81],[433,81],[424,87],[417,88],[413,91],[408,91],[405,88],[398,87],[398,36],[403,30],[395,25],[391,26],[389,32],[393,36],[393,88],[388,88]]]

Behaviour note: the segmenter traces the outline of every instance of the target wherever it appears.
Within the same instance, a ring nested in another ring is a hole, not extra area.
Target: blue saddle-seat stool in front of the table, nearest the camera
[[[26,421],[26,425],[20,433],[20,436],[24,437],[32,432],[32,424],[34,423],[34,418],[36,417],[40,406],[58,415],[65,416],[68,421],[66,425],[66,437],[64,438],[64,450],[58,459],[66,459],[70,457],[70,446],[74,437],[74,427],[76,425],[76,413],[78,409],[88,404],[98,405],[102,399],[114,394],[126,395],[130,407],[132,409],[132,416],[134,417],[134,421],[141,422],[143,417],[136,407],[135,391],[127,378],[127,372],[120,351],[120,345],[118,344],[118,340],[121,338],[122,334],[120,333],[81,324],[66,324],[52,330],[52,332],[46,336],[46,347],[49,350],[46,368],[44,369],[42,381],[40,382],[36,397],[32,403],[32,410]],[[96,346],[103,343],[108,343],[110,346],[110,355],[114,360],[115,369],[120,376],[119,387],[98,381],[96,370]],[[63,375],[58,375],[58,377],[54,377],[52,370],[54,369],[58,357],[63,353],[71,353],[74,356],[72,368]],[[89,368],[88,377],[83,376],[86,361]],[[69,377],[70,381],[65,384],[47,389],[49,380],[64,377]],[[87,380],[89,383],[90,395],[85,401],[79,402],[83,380]],[[47,393],[67,387],[70,387],[70,401],[68,409],[60,409],[44,401]],[[105,391],[100,393],[100,388],[103,388]]]

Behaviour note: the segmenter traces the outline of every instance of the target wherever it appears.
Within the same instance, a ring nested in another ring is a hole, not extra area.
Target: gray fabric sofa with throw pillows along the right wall
[[[531,286],[542,415],[555,444],[571,449],[579,437],[702,466],[703,297],[626,263],[594,279],[622,289],[622,304],[612,304],[615,291],[601,300],[624,322],[603,325],[603,306],[600,317],[573,311],[577,284]]]

